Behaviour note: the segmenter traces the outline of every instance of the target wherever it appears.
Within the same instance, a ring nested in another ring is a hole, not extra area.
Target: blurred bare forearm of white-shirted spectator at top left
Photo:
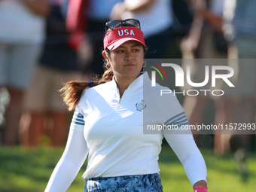
[[[47,16],[50,12],[50,6],[47,0],[21,0],[33,14]]]

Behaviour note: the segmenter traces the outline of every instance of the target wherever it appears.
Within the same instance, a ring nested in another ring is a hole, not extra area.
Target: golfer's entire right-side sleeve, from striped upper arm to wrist
[[[203,156],[194,142],[191,131],[182,129],[182,126],[189,124],[178,99],[176,96],[169,94],[168,99],[166,102],[162,102],[161,106],[163,112],[160,114],[163,116],[164,124],[174,126],[173,129],[163,130],[163,136],[184,166],[192,187],[197,181],[206,181],[207,170]]]

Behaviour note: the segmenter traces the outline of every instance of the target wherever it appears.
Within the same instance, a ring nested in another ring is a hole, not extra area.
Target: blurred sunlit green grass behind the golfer
[[[0,146],[0,192],[41,192],[47,185],[64,148],[6,148]],[[247,167],[249,178],[241,181],[237,164],[230,155],[224,157],[211,150],[202,149],[208,169],[209,192],[254,192],[256,189],[256,155],[249,154]],[[163,146],[160,154],[160,177],[163,191],[193,191],[183,166],[173,151]],[[68,192],[83,191],[81,178],[86,163],[81,168]]]

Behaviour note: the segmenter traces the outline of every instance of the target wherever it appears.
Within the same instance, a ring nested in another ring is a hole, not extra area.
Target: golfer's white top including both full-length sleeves
[[[66,191],[87,156],[85,180],[159,173],[163,136],[181,160],[192,186],[206,180],[206,164],[190,132],[143,134],[143,126],[148,124],[187,124],[176,97],[160,97],[163,88],[168,89],[159,84],[151,87],[145,72],[130,84],[121,99],[114,78],[85,90],[72,119],[66,149],[45,191]]]

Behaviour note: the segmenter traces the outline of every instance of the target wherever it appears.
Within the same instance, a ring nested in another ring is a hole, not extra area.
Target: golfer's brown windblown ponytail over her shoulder
[[[93,81],[94,86],[99,84],[105,84],[108,81],[111,81],[114,74],[112,69],[105,70],[102,78],[96,78]],[[66,105],[69,106],[69,111],[72,111],[78,105],[81,96],[83,95],[86,89],[90,88],[89,82],[86,81],[69,81],[68,83],[64,84],[64,87],[59,90],[62,92],[62,97]]]

